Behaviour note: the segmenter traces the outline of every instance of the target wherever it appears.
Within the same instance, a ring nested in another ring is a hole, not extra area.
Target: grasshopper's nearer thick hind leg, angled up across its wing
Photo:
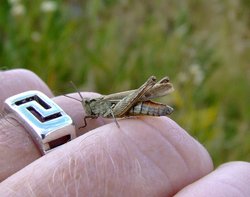
[[[130,108],[138,103],[140,98],[155,85],[155,83],[156,78],[151,76],[140,88],[119,101],[112,109],[114,116],[123,117],[130,110]]]

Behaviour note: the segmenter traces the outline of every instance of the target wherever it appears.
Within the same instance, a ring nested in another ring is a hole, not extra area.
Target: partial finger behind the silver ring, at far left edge
[[[48,86],[36,74],[25,69],[0,71],[0,84],[1,110],[6,98],[24,91],[39,90],[48,97],[53,96]]]

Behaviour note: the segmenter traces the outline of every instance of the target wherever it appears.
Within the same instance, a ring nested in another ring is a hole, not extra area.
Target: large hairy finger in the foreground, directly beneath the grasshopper
[[[172,196],[212,170],[207,151],[168,118],[92,130],[0,184],[0,194]]]

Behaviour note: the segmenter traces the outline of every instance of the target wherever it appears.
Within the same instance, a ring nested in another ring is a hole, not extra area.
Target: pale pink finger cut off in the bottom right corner
[[[224,164],[195,183],[185,187],[176,197],[185,196],[250,196],[250,163]]]

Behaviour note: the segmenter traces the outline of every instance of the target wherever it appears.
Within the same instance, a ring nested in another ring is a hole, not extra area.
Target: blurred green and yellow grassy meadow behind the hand
[[[150,75],[215,165],[250,161],[250,1],[1,0],[1,69],[27,68],[55,94],[109,94]]]

